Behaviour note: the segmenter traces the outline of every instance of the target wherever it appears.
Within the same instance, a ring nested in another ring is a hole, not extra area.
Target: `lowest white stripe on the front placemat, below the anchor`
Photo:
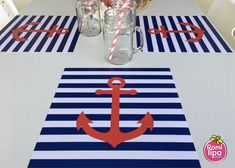
[[[32,159],[198,159],[195,151],[34,151]]]

